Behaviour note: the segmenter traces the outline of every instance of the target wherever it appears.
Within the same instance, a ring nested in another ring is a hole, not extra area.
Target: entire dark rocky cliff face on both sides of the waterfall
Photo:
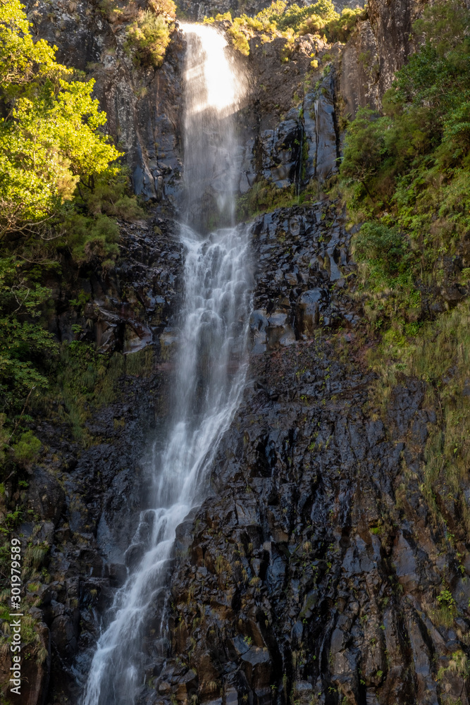
[[[96,78],[151,212],[123,225],[116,271],[80,279],[90,297],[81,314],[56,293],[58,336],[70,339],[82,316],[101,350],[140,355],[116,362],[113,396],[87,422],[88,448],[57,419],[37,429],[48,450],[26,501],[42,525],[22,531],[47,546],[49,580],[35,608],[47,657],[28,663],[25,702],[63,705],[78,702],[101,615],[137,560],[127,548],[147,506],[145,449],[165,424],[181,290],[184,42],[176,31],[159,71],[136,70],[123,27],[92,3],[31,10],[59,58]],[[459,546],[456,560],[420,491],[435,410],[406,380],[379,412],[355,333],[361,311],[345,287],[351,231],[316,191],[337,168],[341,112],[380,104],[412,51],[415,12],[371,2],[347,46],[328,49],[338,60],[327,71],[310,68],[311,54],[321,62],[327,48],[309,36],[288,63],[281,39],[255,37],[240,59],[253,77],[237,116],[240,195],[262,180],[274,204],[282,189],[292,197],[252,224],[250,382],[211,496],[178,530],[169,626],[159,631],[156,605],[142,704],[468,702],[468,553]],[[309,182],[314,195],[302,205]],[[451,620],[438,601],[443,582]]]

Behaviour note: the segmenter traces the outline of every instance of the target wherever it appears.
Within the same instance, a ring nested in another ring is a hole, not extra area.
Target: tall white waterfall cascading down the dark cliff
[[[240,79],[213,27],[183,25],[185,73],[185,297],[173,414],[163,453],[154,448],[154,510],[142,513],[140,564],[117,592],[89,669],[82,705],[132,705],[144,680],[143,638],[166,591],[175,529],[206,494],[218,441],[245,384],[249,320],[247,228],[233,226]],[[209,235],[211,219],[231,227]],[[159,457],[157,457],[159,455]],[[132,548],[132,546],[130,547]]]

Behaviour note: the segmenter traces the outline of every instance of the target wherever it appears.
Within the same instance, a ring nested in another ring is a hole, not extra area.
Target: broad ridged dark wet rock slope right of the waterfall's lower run
[[[419,513],[395,508],[404,443],[393,439],[427,418],[420,386],[397,389],[385,427],[365,411],[370,379],[324,342],[261,353],[251,374],[218,453],[216,495],[173,574],[171,625],[185,635],[173,654],[192,643],[185,663],[202,693],[199,658],[211,651],[226,699],[235,688],[239,700],[274,703],[285,687],[300,702],[333,690],[357,704],[438,702],[435,654],[465,647],[428,617],[446,570],[437,545]],[[457,680],[447,687],[466,701]]]

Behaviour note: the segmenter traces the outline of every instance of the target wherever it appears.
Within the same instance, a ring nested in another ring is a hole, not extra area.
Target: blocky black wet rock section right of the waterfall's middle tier
[[[341,248],[347,252],[349,241],[327,204],[280,209],[256,219],[254,352],[311,338],[317,326],[354,326],[357,307],[329,284],[338,286],[353,271],[349,258],[341,261],[339,254]]]

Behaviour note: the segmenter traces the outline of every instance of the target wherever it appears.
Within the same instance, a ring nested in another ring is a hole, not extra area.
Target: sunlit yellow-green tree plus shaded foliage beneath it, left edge
[[[60,286],[66,266],[111,266],[115,216],[142,213],[104,133],[94,82],[54,53],[33,41],[18,0],[0,1],[0,457],[20,464],[32,460],[27,439],[29,455],[37,450],[27,404],[47,388],[58,355],[44,328],[47,278]]]

